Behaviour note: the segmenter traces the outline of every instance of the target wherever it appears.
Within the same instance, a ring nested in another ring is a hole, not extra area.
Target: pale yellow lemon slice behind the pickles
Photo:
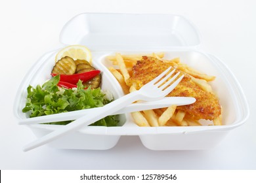
[[[70,58],[76,59],[85,59],[86,61],[89,61],[91,63],[91,51],[83,46],[83,45],[70,45],[66,46],[62,50],[56,54],[55,62],[57,62],[59,59],[64,58],[66,56],[69,56]]]

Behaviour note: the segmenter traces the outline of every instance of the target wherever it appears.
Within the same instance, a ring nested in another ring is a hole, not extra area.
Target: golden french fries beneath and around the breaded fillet
[[[128,86],[127,81],[129,80],[132,72],[132,68],[136,65],[137,61],[142,56],[150,56],[158,58],[163,62],[167,62],[173,67],[187,73],[191,76],[192,81],[198,85],[202,90],[207,92],[213,92],[211,86],[208,84],[209,81],[215,79],[215,76],[205,75],[196,71],[195,69],[188,67],[188,65],[181,63],[179,58],[171,60],[163,59],[164,53],[152,53],[152,54],[133,54],[133,55],[121,55],[116,53],[115,56],[108,56],[107,59],[112,62],[114,67],[108,67],[109,71],[117,79],[123,92],[125,94],[134,92],[135,86]],[[135,123],[141,127],[158,127],[158,126],[198,126],[202,125],[198,120],[188,118],[183,110],[177,109],[176,105],[172,105],[167,108],[157,108],[153,110],[144,110],[138,112],[132,112],[131,115]],[[213,120],[212,125],[221,125],[221,116]]]

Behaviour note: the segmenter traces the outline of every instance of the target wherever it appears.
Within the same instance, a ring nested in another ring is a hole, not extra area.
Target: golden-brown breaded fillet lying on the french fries
[[[156,76],[160,75],[168,67],[170,67],[169,63],[163,63],[159,59],[144,56],[133,66],[132,76],[129,78],[127,84],[129,86],[135,84],[135,88],[139,90],[144,84],[156,78]],[[175,72],[184,74],[178,69]],[[178,86],[167,96],[195,97],[195,103],[177,107],[184,110],[186,115],[194,120],[214,120],[221,114],[221,105],[217,97],[213,93],[203,91],[192,82],[191,77],[187,74],[184,74],[184,78]]]

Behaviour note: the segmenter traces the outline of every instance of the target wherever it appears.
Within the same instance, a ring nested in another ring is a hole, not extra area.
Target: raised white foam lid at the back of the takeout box
[[[60,42],[92,50],[136,50],[198,46],[200,35],[186,18],[173,14],[85,13],[63,27]]]

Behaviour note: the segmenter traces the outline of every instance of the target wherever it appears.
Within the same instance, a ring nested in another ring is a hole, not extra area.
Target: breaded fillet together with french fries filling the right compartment
[[[203,125],[202,120],[211,121],[207,125],[222,125],[222,108],[219,99],[209,82],[215,76],[205,75],[182,63],[179,58],[164,59],[163,53],[145,55],[108,56],[114,67],[109,71],[115,76],[124,93],[139,90],[170,66],[175,67],[174,74],[180,72],[184,78],[168,97],[194,97],[196,102],[190,105],[171,105],[167,108],[132,112],[139,126],[192,126]]]

